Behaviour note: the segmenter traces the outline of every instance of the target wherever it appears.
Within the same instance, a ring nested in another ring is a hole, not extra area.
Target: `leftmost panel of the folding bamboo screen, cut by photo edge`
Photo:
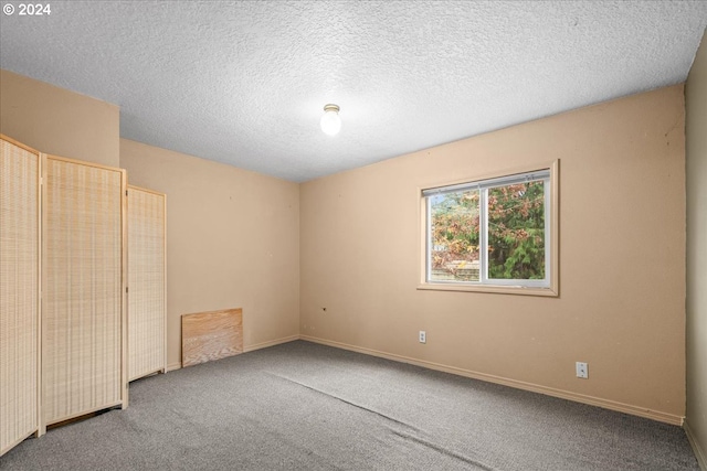
[[[0,141],[0,456],[39,429],[40,156]]]

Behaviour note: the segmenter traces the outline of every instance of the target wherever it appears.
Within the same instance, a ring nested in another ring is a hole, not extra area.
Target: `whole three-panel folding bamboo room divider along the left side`
[[[129,190],[128,339],[127,191],[0,135],[0,456],[166,370],[166,195]]]

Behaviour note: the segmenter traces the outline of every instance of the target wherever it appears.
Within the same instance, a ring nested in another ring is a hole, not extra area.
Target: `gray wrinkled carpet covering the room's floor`
[[[698,470],[679,427],[309,342],[134,382],[10,470]]]

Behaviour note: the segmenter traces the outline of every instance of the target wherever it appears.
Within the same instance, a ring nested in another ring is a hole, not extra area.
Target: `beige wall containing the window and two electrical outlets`
[[[679,424],[684,154],[673,86],[304,183],[300,332]],[[553,159],[559,298],[415,289],[418,188]]]

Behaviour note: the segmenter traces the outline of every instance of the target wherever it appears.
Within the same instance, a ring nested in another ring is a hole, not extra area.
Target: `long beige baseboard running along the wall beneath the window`
[[[665,424],[682,426],[684,417],[673,414],[661,413],[658,410],[651,410],[639,406],[632,406],[630,404],[618,403],[614,400],[602,399],[593,396],[585,396],[583,394],[577,394],[569,390],[556,389],[552,387],[540,386],[532,383],[526,383],[516,379],[509,379],[500,376],[488,375],[486,373],[473,372],[469,370],[457,368],[455,366],[442,365],[439,363],[428,362],[424,360],[416,360],[409,356],[395,355],[392,353],[380,352],[378,350],[366,349],[356,345],[349,345],[347,343],[334,342],[330,340],[324,340],[316,336],[300,335],[302,340],[309,342],[320,343],[323,345],[335,346],[338,349],[350,350],[352,352],[363,353],[367,355],[379,356],[382,358],[392,360],[401,363],[410,363],[412,365],[422,366],[430,370],[436,370],[445,373],[451,373],[460,376],[466,376],[474,379],[481,379],[488,383],[502,384],[504,386],[510,386],[518,389],[530,390],[532,393],[540,393],[547,396],[559,397],[561,399],[569,399],[576,403],[588,404],[590,406],[603,407],[605,409],[615,410],[619,413],[630,414],[633,416],[645,417],[648,419],[662,421]],[[707,470],[706,470],[707,471]]]

